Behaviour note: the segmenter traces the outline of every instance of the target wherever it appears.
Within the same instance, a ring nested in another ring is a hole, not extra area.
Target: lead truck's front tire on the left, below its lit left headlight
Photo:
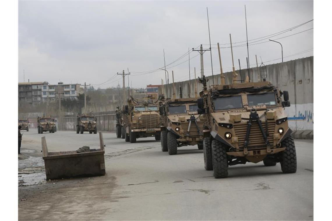
[[[226,178],[228,176],[226,146],[224,146],[219,140],[213,139],[211,148],[213,176],[214,178]]]

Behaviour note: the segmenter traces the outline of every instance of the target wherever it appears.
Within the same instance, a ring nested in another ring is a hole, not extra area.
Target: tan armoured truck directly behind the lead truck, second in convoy
[[[203,149],[204,117],[197,113],[198,98],[168,99],[160,106],[161,150],[177,154],[178,147],[198,145]]]

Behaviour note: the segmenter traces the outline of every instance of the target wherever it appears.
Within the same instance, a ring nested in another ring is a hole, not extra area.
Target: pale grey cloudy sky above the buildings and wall
[[[283,44],[284,61],[313,55],[312,1],[19,1],[19,82],[24,70],[26,82],[107,88],[122,86],[116,74],[128,68],[132,87],[160,84],[165,72],[153,70],[164,66],[163,49],[166,65],[171,63],[166,66],[170,82],[172,70],[175,81],[189,79],[189,56],[193,79],[194,67],[200,74],[200,56],[196,51],[188,55],[188,48],[209,48],[207,7],[213,74],[220,73],[217,42],[223,70],[231,71],[229,33],[238,46],[233,48],[235,69],[238,59],[245,68],[244,5],[251,67],[255,55],[259,64],[260,57],[264,64],[281,62],[281,46],[268,39]],[[209,51],[204,69],[212,75]]]

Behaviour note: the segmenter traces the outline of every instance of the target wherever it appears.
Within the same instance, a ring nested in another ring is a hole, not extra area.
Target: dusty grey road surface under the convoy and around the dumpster
[[[105,176],[45,181],[42,136],[49,151],[99,145],[98,134],[24,132],[19,220],[313,220],[312,140],[295,140],[295,174],[247,163],[214,179],[197,146],[170,156],[154,138],[104,133]]]

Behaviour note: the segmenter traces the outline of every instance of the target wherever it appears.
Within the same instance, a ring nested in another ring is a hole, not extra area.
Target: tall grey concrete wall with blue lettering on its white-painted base
[[[267,78],[280,90],[288,90],[290,97],[290,107],[286,107],[289,125],[292,130],[313,130],[313,56],[301,58],[284,63],[266,66]],[[257,67],[249,69],[250,81],[258,81]],[[238,80],[241,80],[237,70]],[[241,70],[242,79],[248,74],[247,69]],[[232,72],[224,73],[226,84],[232,81]],[[207,77],[207,85],[211,85],[212,76]],[[220,74],[214,75],[214,84],[220,83]],[[198,92],[202,90],[202,84],[198,79],[190,82],[190,96],[195,96],[195,81],[197,82]],[[173,94],[172,84],[167,86],[168,96]],[[182,86],[183,97],[189,97],[189,81],[175,83],[175,94],[179,97],[180,86]],[[163,89],[164,91],[165,88]],[[199,96],[199,93],[198,93]]]

